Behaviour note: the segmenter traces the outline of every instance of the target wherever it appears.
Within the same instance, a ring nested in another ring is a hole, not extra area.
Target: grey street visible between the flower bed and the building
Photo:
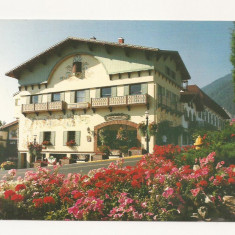
[[[134,166],[141,158],[127,158],[124,160],[124,166]],[[81,173],[87,174],[92,169],[98,169],[102,167],[107,167],[111,162],[116,162],[117,159],[108,160],[108,161],[97,161],[97,162],[85,162],[85,163],[74,163],[69,165],[64,165],[59,169],[59,173],[67,175],[68,173]],[[52,169],[52,167],[48,167]],[[27,168],[27,169],[17,169],[16,170],[16,177],[21,176],[24,177],[26,171],[35,171],[34,168]],[[7,174],[8,171],[0,171],[0,179],[4,175]]]

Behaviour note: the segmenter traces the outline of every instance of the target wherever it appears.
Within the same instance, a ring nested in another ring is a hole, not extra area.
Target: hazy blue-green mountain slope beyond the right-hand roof
[[[235,103],[233,93],[232,74],[217,79],[202,88],[216,103],[224,107],[228,112],[235,116]]]

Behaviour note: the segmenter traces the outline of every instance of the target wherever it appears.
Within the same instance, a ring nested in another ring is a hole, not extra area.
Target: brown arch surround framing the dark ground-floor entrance
[[[105,129],[107,127],[110,127],[111,130],[120,130],[120,127],[124,128],[126,131],[133,131],[135,130],[135,137],[136,140],[139,144],[141,144],[141,136],[139,134],[139,132],[137,131],[137,127],[138,124],[131,122],[131,121],[127,121],[127,120],[115,120],[115,121],[108,121],[108,122],[104,122],[101,123],[97,126],[94,127],[94,151],[97,152],[98,151],[98,138],[99,138],[99,130],[100,129]],[[135,147],[135,146],[132,146]]]

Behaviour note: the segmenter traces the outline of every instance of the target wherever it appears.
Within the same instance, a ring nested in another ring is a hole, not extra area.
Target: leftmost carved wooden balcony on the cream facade
[[[48,102],[48,103],[38,103],[38,104],[23,104],[22,105],[22,113],[24,115],[28,113],[38,113],[41,112],[51,112],[55,111],[63,111],[65,112],[66,103],[64,101],[55,101],[55,102]]]

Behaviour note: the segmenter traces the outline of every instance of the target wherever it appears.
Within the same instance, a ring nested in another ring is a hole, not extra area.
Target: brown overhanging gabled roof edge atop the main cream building
[[[101,41],[96,39],[84,39],[84,38],[75,38],[75,37],[68,37],[65,40],[53,45],[52,47],[48,48],[47,50],[41,52],[40,54],[34,56],[33,58],[29,59],[28,61],[20,64],[19,66],[15,67],[14,69],[8,71],[6,73],[6,76],[17,78],[18,74],[21,70],[26,69],[30,67],[32,64],[43,61],[43,59],[47,56],[49,56],[53,52],[60,51],[61,48],[65,46],[74,46],[78,43],[87,43],[88,45],[101,45],[101,46],[110,46],[110,47],[117,47],[117,48],[124,48],[124,49],[134,49],[134,50],[143,50],[147,52],[150,55],[156,56],[159,58],[160,56],[171,56],[176,60],[176,63],[181,68],[182,74],[184,76],[185,80],[190,79],[190,74],[181,59],[178,51],[170,51],[170,50],[160,50],[158,48],[152,48],[152,47],[145,47],[145,46],[138,46],[138,45],[132,45],[132,44],[126,44],[126,43],[115,43],[115,42],[107,42],[107,41]],[[17,78],[18,79],[18,78]]]

